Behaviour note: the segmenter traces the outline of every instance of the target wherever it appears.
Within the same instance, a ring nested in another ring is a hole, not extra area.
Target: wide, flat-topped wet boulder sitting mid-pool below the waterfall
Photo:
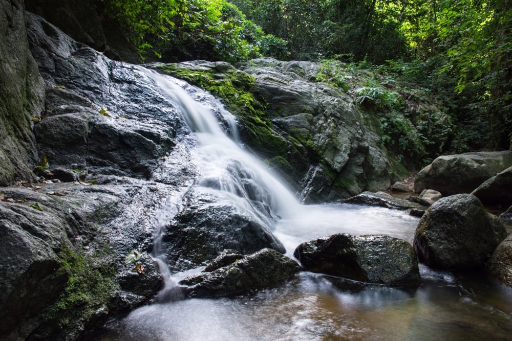
[[[390,236],[336,234],[302,243],[293,255],[320,274],[390,286],[421,282],[412,246]]]

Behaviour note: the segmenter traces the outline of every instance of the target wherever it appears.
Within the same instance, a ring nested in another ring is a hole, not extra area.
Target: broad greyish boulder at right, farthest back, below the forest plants
[[[416,174],[414,191],[434,189],[443,196],[471,193],[485,180],[512,166],[512,151],[437,157]]]

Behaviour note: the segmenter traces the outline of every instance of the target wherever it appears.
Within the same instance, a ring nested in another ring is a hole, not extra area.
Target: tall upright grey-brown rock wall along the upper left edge
[[[34,178],[31,126],[42,109],[44,88],[29,51],[22,0],[0,4],[0,32],[0,186],[6,186]]]

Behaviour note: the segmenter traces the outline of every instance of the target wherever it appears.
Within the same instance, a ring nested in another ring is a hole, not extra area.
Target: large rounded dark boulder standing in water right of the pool
[[[436,201],[426,210],[414,235],[420,262],[444,269],[482,266],[506,230],[498,218],[485,212],[471,194],[457,194]]]

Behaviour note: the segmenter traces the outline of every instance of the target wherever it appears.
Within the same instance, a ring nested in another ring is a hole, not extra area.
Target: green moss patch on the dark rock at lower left
[[[64,247],[60,258],[58,271],[67,272],[69,279],[57,300],[42,312],[42,317],[66,329],[87,322],[95,311],[109,302],[117,288],[113,281],[116,271],[113,264],[105,260],[110,257],[104,251],[84,255]]]

